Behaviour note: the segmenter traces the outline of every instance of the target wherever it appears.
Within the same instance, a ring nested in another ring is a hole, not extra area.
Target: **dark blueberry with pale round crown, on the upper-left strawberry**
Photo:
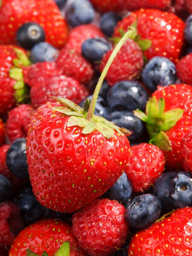
[[[30,50],[35,44],[45,41],[45,32],[39,24],[28,22],[17,30],[16,39],[21,47]]]

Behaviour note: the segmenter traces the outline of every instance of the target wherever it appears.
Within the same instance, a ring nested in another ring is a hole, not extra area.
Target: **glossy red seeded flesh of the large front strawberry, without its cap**
[[[38,108],[29,125],[27,161],[33,192],[51,209],[74,212],[102,195],[128,166],[127,137],[107,140],[98,131],[81,134],[67,127],[69,116],[53,111],[58,103]]]

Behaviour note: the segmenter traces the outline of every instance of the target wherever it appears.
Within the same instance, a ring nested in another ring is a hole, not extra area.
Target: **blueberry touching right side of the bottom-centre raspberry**
[[[125,211],[125,219],[131,227],[143,229],[153,224],[160,215],[161,205],[151,194],[136,196]]]

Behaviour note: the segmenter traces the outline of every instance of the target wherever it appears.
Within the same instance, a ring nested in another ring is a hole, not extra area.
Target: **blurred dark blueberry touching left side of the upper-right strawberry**
[[[107,12],[102,15],[100,19],[100,29],[106,36],[111,37],[114,32],[114,27],[116,27],[120,20],[122,20],[122,18],[116,12]]]

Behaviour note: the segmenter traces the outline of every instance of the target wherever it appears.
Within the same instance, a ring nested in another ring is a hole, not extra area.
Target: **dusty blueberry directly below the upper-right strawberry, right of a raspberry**
[[[143,68],[142,79],[151,92],[157,90],[157,85],[175,84],[176,67],[168,58],[156,56]]]

